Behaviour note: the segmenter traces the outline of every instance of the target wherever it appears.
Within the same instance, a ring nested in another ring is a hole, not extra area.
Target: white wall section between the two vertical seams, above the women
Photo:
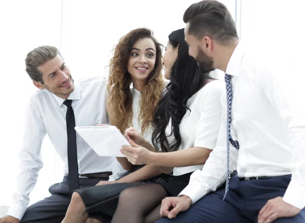
[[[166,45],[171,31],[185,27],[185,10],[197,0],[65,0],[62,52],[73,75],[105,75],[113,46],[131,29],[148,27]],[[235,14],[235,0],[224,0]],[[178,4],[177,4],[178,3]]]

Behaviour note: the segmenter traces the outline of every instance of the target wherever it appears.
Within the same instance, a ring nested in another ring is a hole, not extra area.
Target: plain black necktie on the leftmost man
[[[69,171],[69,190],[72,192],[79,188],[78,182],[78,164],[76,149],[76,132],[75,117],[71,106],[72,100],[66,100],[64,104],[67,106],[66,122],[67,122],[67,138],[68,138],[68,171]]]

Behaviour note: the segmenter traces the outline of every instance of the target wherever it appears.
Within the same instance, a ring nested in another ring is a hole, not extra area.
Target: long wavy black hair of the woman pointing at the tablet
[[[185,42],[184,28],[173,31],[169,36],[169,43],[176,48],[178,55],[170,73],[170,83],[156,107],[151,135],[153,144],[163,152],[177,151],[181,144],[179,124],[187,110],[187,101],[207,82],[209,71],[200,73],[197,61],[189,55],[189,46]],[[202,68],[201,68],[202,69]],[[171,119],[174,140],[167,140],[165,130]]]

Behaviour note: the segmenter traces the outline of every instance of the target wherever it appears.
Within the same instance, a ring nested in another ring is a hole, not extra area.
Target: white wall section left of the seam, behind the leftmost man
[[[28,51],[39,45],[60,45],[61,4],[60,0],[0,1],[0,205],[11,203],[25,108],[35,90],[24,71],[24,59]],[[55,155],[47,151],[51,149],[46,140],[45,167],[32,194],[33,200],[46,194],[40,192],[40,187],[54,181]]]

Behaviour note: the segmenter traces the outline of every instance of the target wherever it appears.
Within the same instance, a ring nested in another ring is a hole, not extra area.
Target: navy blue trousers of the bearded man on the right
[[[284,196],[290,178],[291,175],[285,175],[264,180],[241,181],[238,176],[235,176],[230,180],[230,189],[225,201],[223,201],[225,190],[220,189],[206,195],[189,210],[179,213],[175,218],[162,218],[156,222],[257,222],[258,213],[268,200]],[[281,218],[273,222],[305,222],[305,209],[294,217]]]

